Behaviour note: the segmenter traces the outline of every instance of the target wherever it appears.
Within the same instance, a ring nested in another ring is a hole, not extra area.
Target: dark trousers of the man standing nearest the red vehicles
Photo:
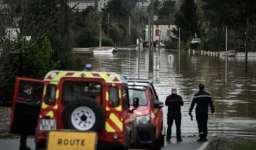
[[[176,138],[181,139],[181,113],[168,113],[167,115],[167,135],[166,139],[171,139],[171,127],[174,123],[176,125]]]

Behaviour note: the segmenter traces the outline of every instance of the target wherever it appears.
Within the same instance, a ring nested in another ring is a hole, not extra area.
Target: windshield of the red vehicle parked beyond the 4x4
[[[129,103],[132,104],[134,98],[139,98],[139,106],[147,105],[146,91],[129,88]]]

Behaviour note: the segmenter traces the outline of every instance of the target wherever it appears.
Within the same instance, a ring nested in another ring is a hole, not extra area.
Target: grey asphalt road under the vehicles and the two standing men
[[[166,143],[163,150],[203,150],[208,142],[196,142],[196,137],[183,137],[183,142],[176,143],[176,139],[171,139],[171,142]],[[35,148],[33,139],[28,139],[27,144],[32,149]],[[19,146],[19,139],[0,139],[1,150],[16,150]]]

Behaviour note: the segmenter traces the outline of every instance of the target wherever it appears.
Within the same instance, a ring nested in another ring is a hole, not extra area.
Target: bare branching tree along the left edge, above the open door
[[[60,4],[58,0],[0,2],[0,104],[6,105],[11,103],[16,76],[11,64],[13,55],[28,53],[49,30],[58,28],[56,25],[66,14],[60,12],[65,4]],[[64,11],[67,11],[66,8]]]

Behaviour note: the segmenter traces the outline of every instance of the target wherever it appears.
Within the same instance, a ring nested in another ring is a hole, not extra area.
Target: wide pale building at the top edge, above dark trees
[[[88,6],[95,7],[95,0],[68,0],[68,6],[74,8],[74,10],[82,11],[85,10]]]

